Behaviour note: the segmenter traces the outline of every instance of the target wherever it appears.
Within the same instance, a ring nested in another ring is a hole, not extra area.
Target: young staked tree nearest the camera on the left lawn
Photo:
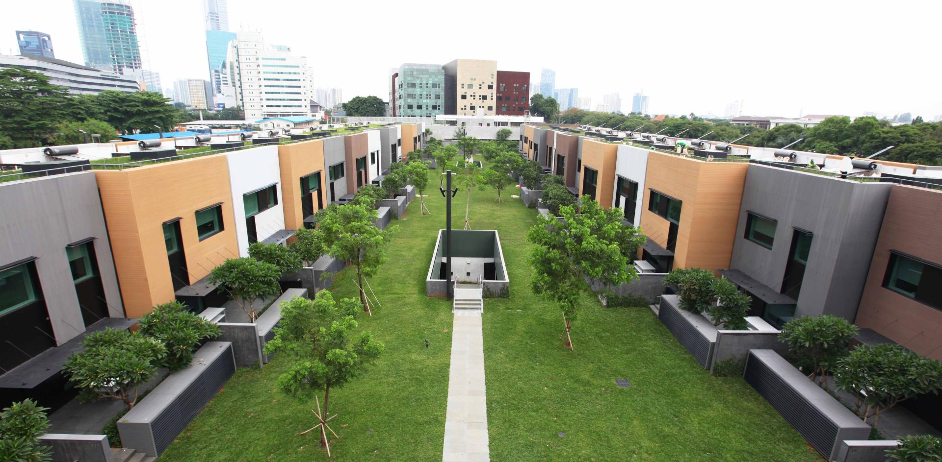
[[[292,298],[282,303],[282,320],[275,327],[274,339],[265,346],[268,354],[281,351],[295,359],[291,369],[278,377],[278,388],[299,398],[310,400],[314,396],[317,407],[311,412],[317,424],[300,435],[317,430],[328,456],[331,455],[328,433],[340,438],[328,424],[337,416],[328,417],[331,390],[342,388],[363,374],[383,350],[382,343],[368,331],[361,333],[359,339],[352,339],[358,311],[360,303],[356,298],[337,302],[330,291],[318,292],[314,300]],[[318,391],[324,392],[323,406],[317,398]]]

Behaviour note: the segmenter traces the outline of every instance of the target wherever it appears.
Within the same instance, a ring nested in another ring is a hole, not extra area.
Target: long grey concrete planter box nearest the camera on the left
[[[122,444],[156,457],[235,373],[232,343],[207,342],[187,369],[170,374],[118,421]]]

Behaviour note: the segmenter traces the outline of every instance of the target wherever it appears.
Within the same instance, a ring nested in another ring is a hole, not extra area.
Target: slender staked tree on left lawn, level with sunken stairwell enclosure
[[[369,309],[363,280],[373,277],[380,270],[385,261],[383,245],[396,230],[396,227],[385,230],[377,228],[374,223],[377,217],[376,210],[364,204],[328,207],[318,217],[315,230],[317,240],[323,244],[327,254],[356,266],[360,303],[370,316],[373,311]]]

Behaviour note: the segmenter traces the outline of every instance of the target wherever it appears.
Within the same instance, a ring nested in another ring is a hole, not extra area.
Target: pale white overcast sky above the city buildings
[[[52,35],[56,57],[83,62],[72,0],[2,0],[0,53],[14,31]],[[299,2],[229,0],[231,30],[261,30],[308,56],[318,87],[388,98],[389,68],[495,59],[497,69],[556,71],[593,109],[643,89],[649,112],[746,115],[942,114],[942,2],[794,0],[644,2]],[[133,0],[145,62],[164,88],[208,78],[201,0]],[[565,5],[565,7],[563,7]],[[16,54],[14,52],[13,54]]]

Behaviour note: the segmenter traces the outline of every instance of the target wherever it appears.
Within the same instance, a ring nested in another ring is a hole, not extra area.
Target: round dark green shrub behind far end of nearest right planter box
[[[853,336],[860,332],[850,321],[823,314],[816,317],[802,316],[792,319],[782,327],[778,339],[788,344],[792,353],[811,363],[808,378],[830,390],[827,374],[837,360],[847,356],[848,346]]]

